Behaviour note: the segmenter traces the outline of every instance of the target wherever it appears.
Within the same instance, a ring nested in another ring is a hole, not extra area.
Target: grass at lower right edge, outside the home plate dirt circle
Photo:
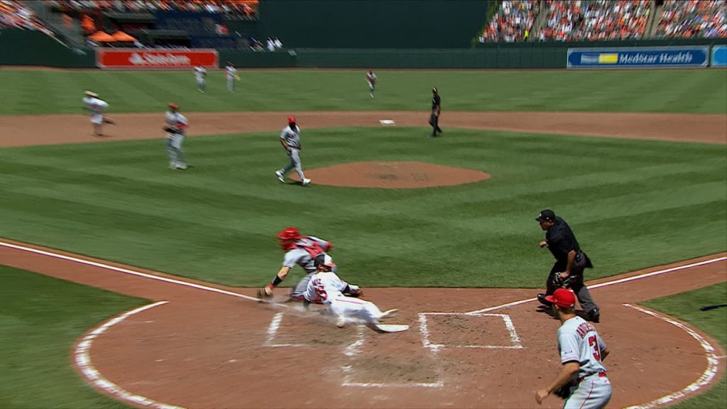
[[[727,350],[727,308],[700,311],[699,307],[727,303],[727,283],[704,287],[644,303],[651,309],[662,311],[715,338]],[[608,365],[608,364],[606,364]],[[672,405],[673,409],[723,409],[727,406],[727,380],[720,378],[712,388],[696,397]]]

